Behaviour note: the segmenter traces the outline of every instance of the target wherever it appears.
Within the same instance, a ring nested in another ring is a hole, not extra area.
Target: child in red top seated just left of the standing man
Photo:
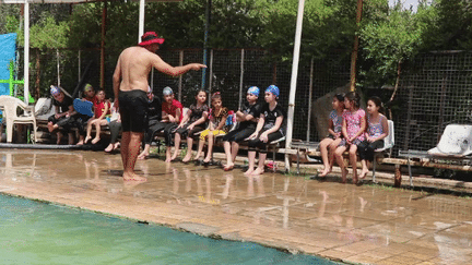
[[[108,120],[105,118],[105,116],[110,113],[110,103],[105,99],[105,92],[98,91],[96,93],[97,100],[93,106],[94,109],[94,119],[88,120],[87,122],[87,131],[86,131],[86,137],[85,137],[85,144],[92,138],[92,125],[95,125],[96,135],[92,140],[92,144],[98,143],[99,133],[102,125],[108,124]]]

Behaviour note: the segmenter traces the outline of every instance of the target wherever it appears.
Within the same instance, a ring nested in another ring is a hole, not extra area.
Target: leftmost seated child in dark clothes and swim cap
[[[74,125],[75,120],[73,116],[76,113],[73,109],[73,100],[67,96],[58,86],[50,86],[50,94],[52,95],[52,105],[56,109],[56,115],[48,119],[48,131],[51,133],[62,128],[62,131],[69,135],[69,144],[73,144],[73,135],[71,128]],[[62,140],[62,132],[57,131],[57,144]]]

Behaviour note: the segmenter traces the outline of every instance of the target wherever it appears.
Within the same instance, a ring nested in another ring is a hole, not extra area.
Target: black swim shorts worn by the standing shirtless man
[[[144,132],[148,128],[148,95],[144,91],[119,92],[119,110],[123,132]]]

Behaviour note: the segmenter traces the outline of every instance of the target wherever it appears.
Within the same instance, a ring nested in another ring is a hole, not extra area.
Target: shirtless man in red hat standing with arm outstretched
[[[125,49],[118,58],[113,76],[115,106],[121,115],[121,160],[123,180],[145,181],[134,172],[134,165],[146,128],[144,119],[148,108],[148,75],[152,68],[165,74],[177,76],[190,70],[206,68],[200,63],[172,67],[155,52],[164,43],[154,32],[144,33],[139,46]],[[119,104],[119,105],[118,105]]]

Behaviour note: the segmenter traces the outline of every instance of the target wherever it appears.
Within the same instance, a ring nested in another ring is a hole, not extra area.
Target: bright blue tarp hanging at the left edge
[[[16,33],[0,35],[0,80],[10,79],[10,61],[15,61]],[[10,95],[9,84],[0,83],[0,95]]]

